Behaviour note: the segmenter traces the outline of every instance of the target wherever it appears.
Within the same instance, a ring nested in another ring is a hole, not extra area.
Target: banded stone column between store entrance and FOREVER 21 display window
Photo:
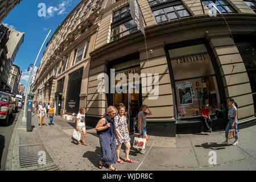
[[[148,94],[147,89],[147,93],[142,93],[142,104],[148,105],[153,113],[152,116],[147,117],[147,130],[153,135],[176,137],[172,87],[166,53],[164,51],[164,42],[152,44],[147,49],[148,61],[146,48],[141,47],[138,49],[140,52],[141,73],[146,74],[146,77],[149,76],[148,73],[152,73],[152,77],[156,73],[159,74],[159,93],[156,95],[156,99],[150,99],[154,97],[156,92],[154,94]],[[150,84],[156,89],[154,81],[147,83],[147,85]]]

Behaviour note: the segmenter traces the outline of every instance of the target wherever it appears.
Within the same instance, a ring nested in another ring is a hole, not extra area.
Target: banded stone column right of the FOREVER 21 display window
[[[238,104],[238,120],[253,117],[254,106],[251,96],[251,87],[242,57],[235,46],[229,32],[207,34],[206,38],[213,50],[226,95],[226,104],[229,98],[234,98]]]

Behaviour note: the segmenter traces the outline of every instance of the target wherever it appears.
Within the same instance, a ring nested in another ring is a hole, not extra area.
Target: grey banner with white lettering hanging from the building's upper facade
[[[130,0],[130,10],[131,10],[131,17],[133,17],[134,22],[137,24],[142,34],[145,35],[142,13],[137,0]]]

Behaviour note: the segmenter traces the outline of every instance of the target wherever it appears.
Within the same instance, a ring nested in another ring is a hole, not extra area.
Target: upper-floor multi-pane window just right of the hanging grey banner
[[[167,0],[148,0],[156,23],[167,22],[174,19],[191,16],[181,1],[169,2]]]

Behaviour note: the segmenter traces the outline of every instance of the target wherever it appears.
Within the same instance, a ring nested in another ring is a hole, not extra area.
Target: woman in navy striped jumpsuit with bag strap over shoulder
[[[101,156],[99,160],[99,168],[102,169],[103,165],[108,165],[109,170],[117,171],[113,167],[117,160],[116,144],[115,144],[115,123],[114,117],[117,109],[114,106],[108,107],[108,114],[98,121],[96,131],[100,137]]]

